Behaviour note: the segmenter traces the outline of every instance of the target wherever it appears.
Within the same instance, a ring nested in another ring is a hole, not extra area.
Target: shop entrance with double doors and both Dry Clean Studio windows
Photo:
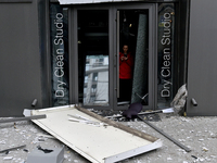
[[[176,8],[176,2],[50,2],[52,105],[126,108],[118,104],[118,51],[127,43],[135,58],[131,101],[146,95],[144,108],[169,106],[178,83]]]

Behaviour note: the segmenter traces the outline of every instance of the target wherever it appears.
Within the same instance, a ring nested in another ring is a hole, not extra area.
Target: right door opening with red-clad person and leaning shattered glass
[[[149,10],[119,10],[117,21],[117,104],[142,102],[148,105]],[[127,52],[124,50],[126,46]],[[124,53],[127,53],[127,58],[124,58]],[[129,60],[133,63],[130,64]],[[125,75],[126,71],[131,71],[131,74]]]

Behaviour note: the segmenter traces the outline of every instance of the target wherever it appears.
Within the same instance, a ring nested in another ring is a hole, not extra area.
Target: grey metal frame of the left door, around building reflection
[[[78,89],[74,89],[74,88],[78,88],[78,37],[77,37],[77,11],[78,10],[107,10],[108,11],[108,42],[111,45],[112,42],[112,5],[105,5],[105,4],[91,4],[91,5],[73,5],[73,8],[71,8],[69,11],[69,42],[72,42],[69,45],[69,102],[71,103],[78,103]],[[110,101],[110,105],[107,106],[98,106],[98,105],[84,105],[84,108],[94,108],[94,109],[102,109],[102,110],[111,110],[113,109],[113,99],[111,96],[111,87],[112,87],[112,83],[111,80],[113,80],[113,76],[112,76],[112,66],[111,63],[113,61],[112,57],[111,57],[111,51],[113,51],[112,49],[113,47],[110,46],[110,67],[108,67],[108,78],[110,78],[110,83],[108,83],[108,101]]]

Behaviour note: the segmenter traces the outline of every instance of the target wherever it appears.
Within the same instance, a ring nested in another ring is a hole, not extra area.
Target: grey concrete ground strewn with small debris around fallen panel
[[[127,126],[148,133],[162,139],[161,149],[137,155],[122,161],[122,163],[217,163],[217,117],[183,117],[178,115],[166,116],[159,114],[161,121],[151,122],[162,128],[182,145],[189,147],[192,151],[186,152],[183,149],[155,131],[141,121],[120,122]],[[41,146],[52,149],[61,148],[56,139],[46,138],[41,141],[39,135],[47,134],[31,122],[17,122],[0,124],[0,150],[26,145],[23,149],[12,150],[9,153],[0,153],[1,163],[24,163],[28,154]],[[89,163],[73,150],[65,148],[63,163]]]

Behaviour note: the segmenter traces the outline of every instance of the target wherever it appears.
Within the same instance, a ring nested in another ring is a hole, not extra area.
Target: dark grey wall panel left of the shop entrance
[[[37,2],[0,3],[0,116],[41,106]]]

